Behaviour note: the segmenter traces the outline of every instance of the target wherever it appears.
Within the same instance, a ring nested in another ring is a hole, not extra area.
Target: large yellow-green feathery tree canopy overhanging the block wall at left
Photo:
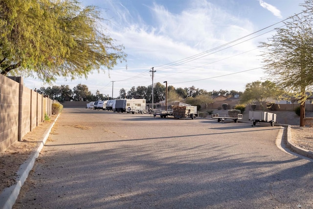
[[[87,77],[124,61],[122,45],[104,32],[99,11],[77,0],[1,0],[0,73]]]

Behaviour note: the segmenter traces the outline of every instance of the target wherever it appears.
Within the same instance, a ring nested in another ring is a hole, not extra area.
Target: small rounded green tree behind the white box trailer
[[[247,104],[249,102],[257,101],[262,109],[264,109],[262,102],[265,102],[268,97],[278,97],[281,94],[282,92],[277,89],[276,84],[269,80],[264,82],[254,81],[246,84],[246,89],[241,95],[240,102],[242,104]]]

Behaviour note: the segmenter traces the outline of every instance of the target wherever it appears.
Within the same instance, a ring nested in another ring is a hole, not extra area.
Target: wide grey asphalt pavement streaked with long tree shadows
[[[65,108],[13,208],[313,208],[313,163],[281,131]]]

